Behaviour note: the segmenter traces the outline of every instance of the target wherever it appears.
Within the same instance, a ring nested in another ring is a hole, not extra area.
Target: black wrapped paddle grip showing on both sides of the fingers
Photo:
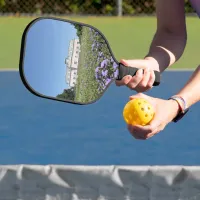
[[[139,70],[138,68],[126,67],[123,64],[119,63],[119,75],[117,80],[121,80],[124,76],[127,75],[135,76],[138,70]],[[153,86],[158,86],[160,85],[160,72],[154,71],[154,74],[155,74],[155,81]]]

